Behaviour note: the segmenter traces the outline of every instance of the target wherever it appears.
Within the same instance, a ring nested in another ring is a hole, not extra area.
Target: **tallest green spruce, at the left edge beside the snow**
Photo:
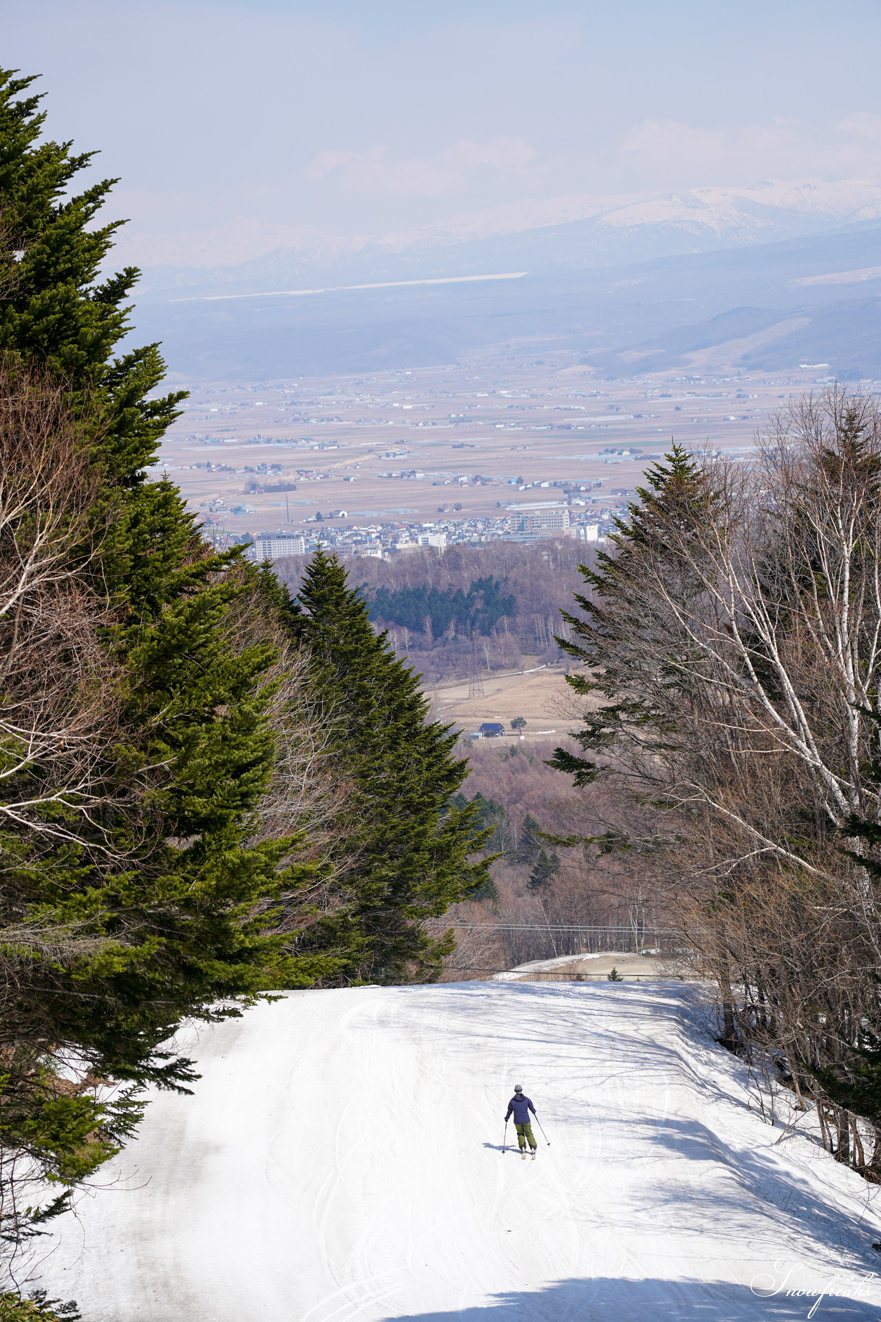
[[[4,389],[32,401],[42,393],[77,432],[81,504],[82,492],[88,498],[74,541],[70,524],[67,533],[63,520],[52,525],[58,627],[50,641],[63,673],[63,646],[75,660],[69,621],[88,598],[95,624],[86,650],[106,665],[92,657],[86,680],[104,686],[116,718],[112,738],[90,752],[87,792],[61,784],[53,796],[46,785],[58,758],[50,765],[41,754],[22,755],[9,665],[3,670],[0,714],[12,715],[0,739],[0,972],[9,1010],[0,1144],[70,1185],[114,1150],[133,1114],[131,1096],[100,1103],[90,1080],[181,1085],[189,1063],[160,1044],[184,1015],[238,1013],[242,998],[309,985],[334,965],[316,949],[292,956],[273,932],[281,883],[296,890],[305,870],[295,839],[255,836],[273,764],[267,703],[276,652],[260,637],[236,646],[230,612],[247,592],[258,611],[260,594],[235,553],[205,547],[174,485],[148,480],[184,395],[156,397],[157,345],[111,357],[137,276],[127,267],[99,279],[120,222],[94,222],[114,181],[69,196],[90,157],[40,140],[30,82],[0,71]],[[20,402],[9,407],[28,414]],[[0,553],[15,558],[33,543],[41,518],[5,521]],[[46,543],[49,533],[41,537]],[[28,591],[18,623],[15,612],[0,621],[4,661],[22,619],[49,617],[45,582]],[[65,695],[69,707],[86,701],[88,683]],[[82,1063],[82,1084],[61,1077],[59,1058]],[[15,1237],[21,1224],[11,1216]]]

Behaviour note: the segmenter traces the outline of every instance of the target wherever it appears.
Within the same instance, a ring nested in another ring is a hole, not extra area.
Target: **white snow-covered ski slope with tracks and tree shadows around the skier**
[[[87,1322],[881,1315],[881,1192],[762,1120],[695,989],[292,993],[195,1055],[44,1263]]]

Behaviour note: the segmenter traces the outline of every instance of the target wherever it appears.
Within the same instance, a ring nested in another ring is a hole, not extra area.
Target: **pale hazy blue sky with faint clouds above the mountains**
[[[565,193],[881,181],[878,0],[28,0],[3,62],[119,175],[127,256]]]

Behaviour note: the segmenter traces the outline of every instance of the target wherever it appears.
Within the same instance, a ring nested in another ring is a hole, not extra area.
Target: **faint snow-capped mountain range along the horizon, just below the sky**
[[[259,293],[361,282],[419,280],[491,271],[585,270],[824,234],[881,219],[881,185],[861,180],[771,180],[753,188],[682,193],[581,194],[462,213],[380,235],[316,235],[272,226],[259,255],[210,262],[211,242],[180,264],[144,260],[141,296]],[[239,225],[242,241],[244,222]],[[190,237],[192,238],[192,237]],[[127,249],[135,255],[136,235]],[[214,231],[215,250],[229,253]],[[153,249],[156,253],[156,249]],[[118,258],[119,259],[119,258]]]

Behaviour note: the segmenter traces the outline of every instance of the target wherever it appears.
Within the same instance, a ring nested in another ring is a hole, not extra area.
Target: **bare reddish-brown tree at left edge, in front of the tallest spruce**
[[[94,508],[61,389],[0,368],[0,818],[54,837],[106,800],[119,713],[111,617],[87,583]]]

